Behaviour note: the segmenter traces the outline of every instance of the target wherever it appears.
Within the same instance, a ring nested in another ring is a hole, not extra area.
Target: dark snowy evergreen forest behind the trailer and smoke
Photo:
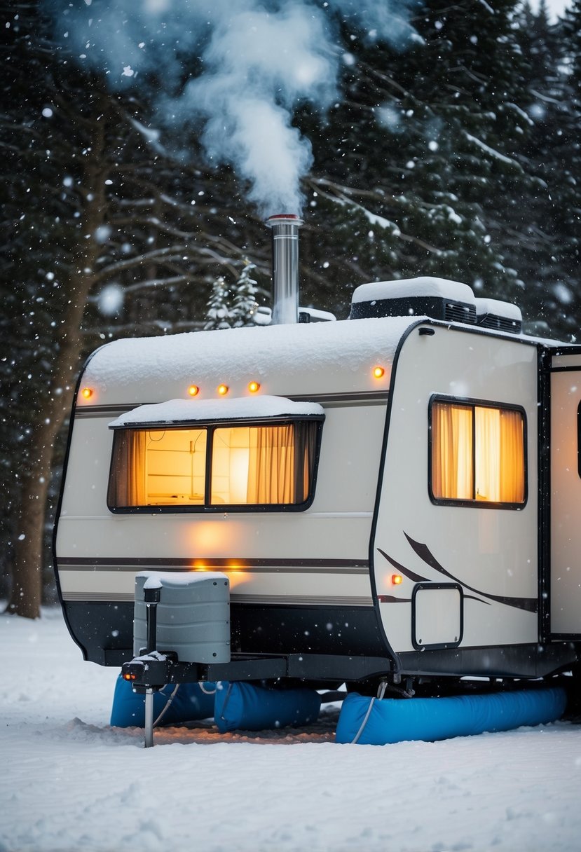
[[[83,359],[114,337],[203,328],[216,299],[228,324],[249,269],[267,305],[270,245],[248,187],[210,167],[194,131],[187,160],[152,134],[153,83],[112,93],[53,41],[43,3],[0,8],[0,597],[34,618],[55,600]],[[423,43],[398,51],[344,23],[341,97],[325,116],[296,112],[314,153],[302,305],[343,319],[365,281],[435,275],[578,341],[580,0],[556,22],[544,4],[428,0],[412,24]]]

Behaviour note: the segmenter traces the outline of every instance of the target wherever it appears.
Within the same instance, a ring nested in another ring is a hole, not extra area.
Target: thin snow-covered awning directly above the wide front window
[[[153,423],[191,423],[216,420],[248,420],[268,417],[313,417],[324,414],[316,402],[293,402],[284,396],[239,397],[231,400],[168,400],[138,406],[117,417],[109,426]]]

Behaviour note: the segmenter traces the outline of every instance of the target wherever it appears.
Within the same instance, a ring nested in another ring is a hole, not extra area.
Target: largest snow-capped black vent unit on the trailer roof
[[[459,281],[429,277],[376,281],[356,288],[349,319],[429,316],[475,325],[475,302],[469,285]]]

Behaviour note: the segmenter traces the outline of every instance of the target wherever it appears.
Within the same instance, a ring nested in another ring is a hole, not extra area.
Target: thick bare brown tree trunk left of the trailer
[[[87,297],[95,283],[95,263],[99,256],[96,229],[103,224],[106,210],[106,99],[96,98],[90,125],[91,144],[86,150],[83,175],[83,221],[78,233],[78,252],[69,277],[63,285],[69,306],[60,326],[60,348],[50,386],[37,400],[37,417],[30,449],[21,472],[19,527],[14,542],[12,590],[6,612],[27,619],[40,617],[43,591],[43,527],[55,440],[71,410],[72,394],[83,354],[81,326]]]

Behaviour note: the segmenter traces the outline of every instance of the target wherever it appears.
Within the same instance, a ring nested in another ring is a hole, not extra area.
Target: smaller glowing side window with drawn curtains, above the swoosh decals
[[[526,502],[525,414],[471,400],[430,406],[430,496],[435,503],[519,508]]]

